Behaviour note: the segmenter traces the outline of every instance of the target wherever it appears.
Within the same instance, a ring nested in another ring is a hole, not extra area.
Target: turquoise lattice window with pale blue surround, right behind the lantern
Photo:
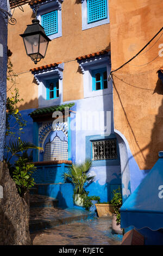
[[[40,0],[37,19],[49,39],[62,36],[61,4],[64,0]],[[30,4],[33,9],[33,4]]]

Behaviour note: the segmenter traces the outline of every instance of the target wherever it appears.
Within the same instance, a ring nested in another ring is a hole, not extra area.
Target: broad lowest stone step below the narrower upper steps
[[[29,230],[33,233],[45,228],[53,228],[58,225],[68,224],[77,221],[90,220],[95,218],[85,210],[55,208],[31,208]]]

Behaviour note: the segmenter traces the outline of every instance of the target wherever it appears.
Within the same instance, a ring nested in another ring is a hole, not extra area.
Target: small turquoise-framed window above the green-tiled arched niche
[[[47,100],[57,99],[59,97],[59,80],[53,79],[47,81]]]

